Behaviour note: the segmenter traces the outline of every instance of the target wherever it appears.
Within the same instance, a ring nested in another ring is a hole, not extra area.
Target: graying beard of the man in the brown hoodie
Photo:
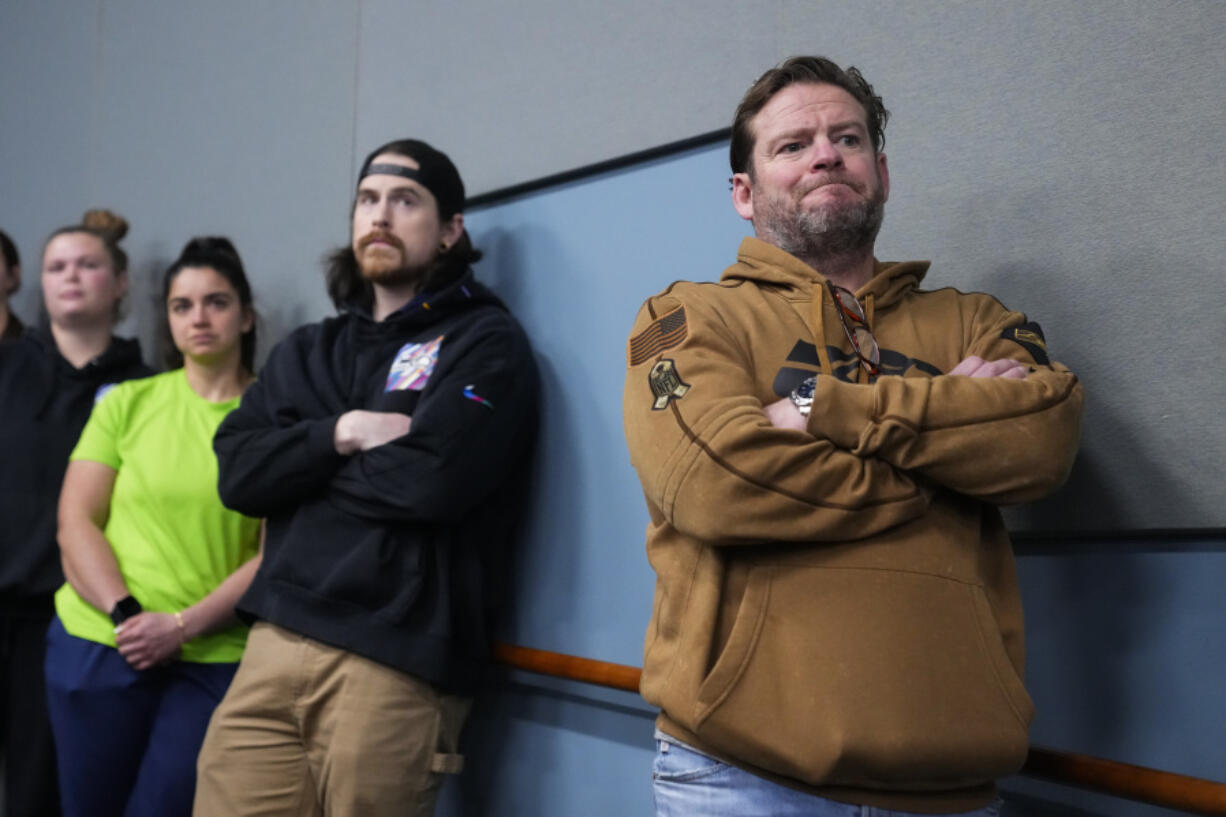
[[[880,180],[863,199],[803,209],[801,201],[813,189],[794,200],[774,193],[759,200],[754,207],[759,236],[799,259],[835,259],[872,248],[885,217]]]

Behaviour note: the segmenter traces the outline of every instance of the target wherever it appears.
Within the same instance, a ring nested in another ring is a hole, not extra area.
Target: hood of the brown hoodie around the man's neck
[[[889,309],[917,288],[928,272],[928,261],[877,261],[873,277],[856,291],[861,301],[872,301],[875,309]],[[814,283],[825,283],[821,272],[758,238],[745,238],[737,249],[737,263],[723,271],[720,281],[754,281],[810,293]]]

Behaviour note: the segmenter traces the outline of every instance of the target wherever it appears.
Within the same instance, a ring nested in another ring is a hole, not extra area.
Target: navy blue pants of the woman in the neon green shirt
[[[238,664],[136,671],[113,646],[47,632],[64,817],[190,817],[196,756]]]

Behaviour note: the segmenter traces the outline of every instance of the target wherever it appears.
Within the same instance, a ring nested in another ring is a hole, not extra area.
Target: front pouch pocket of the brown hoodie
[[[950,789],[1015,772],[1030,697],[982,588],[761,566],[687,727],[813,785]]]

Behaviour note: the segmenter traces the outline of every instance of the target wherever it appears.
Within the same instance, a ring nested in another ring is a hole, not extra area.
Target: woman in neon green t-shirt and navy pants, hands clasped
[[[238,667],[234,604],[259,521],[221,504],[212,437],[253,379],[255,314],[234,247],[192,239],[164,278],[181,368],[99,397],[60,497],[67,584],[47,686],[64,815],[191,813],[195,757]]]

